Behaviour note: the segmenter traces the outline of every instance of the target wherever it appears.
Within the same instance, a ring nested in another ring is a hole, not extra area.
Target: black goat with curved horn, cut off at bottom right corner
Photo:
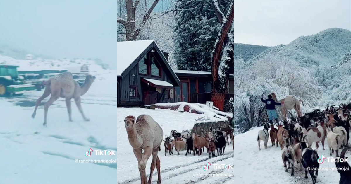
[[[350,165],[347,162],[341,162],[340,159],[347,159],[348,157],[345,157],[345,153],[347,150],[350,150],[351,147],[345,147],[343,151],[341,151],[340,157],[339,154],[336,153],[336,157],[339,157],[339,159],[336,160],[335,165],[338,168],[338,172],[340,174],[340,180],[339,184],[350,184],[351,183],[351,176],[350,176]]]

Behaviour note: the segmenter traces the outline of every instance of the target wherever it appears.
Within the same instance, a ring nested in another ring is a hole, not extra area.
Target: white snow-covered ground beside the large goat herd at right
[[[277,127],[276,127],[277,128]],[[299,170],[299,166],[294,166],[294,176],[290,176],[291,169],[285,172],[282,161],[282,151],[280,147],[272,147],[271,140],[268,141],[268,148],[264,149],[263,141],[261,141],[261,151],[258,150],[257,133],[263,127],[256,127],[243,134],[234,137],[234,181],[240,184],[310,184],[312,179],[309,174],[308,179],[305,179],[305,171]],[[349,143],[350,144],[350,143]],[[312,148],[316,148],[313,143]],[[319,144],[318,156],[323,154],[325,157],[329,156],[329,147],[325,140],[325,150],[322,150],[322,145]],[[350,151],[346,152],[350,155]],[[347,156],[350,158],[350,156]],[[350,160],[349,164],[350,164]],[[320,167],[335,167],[335,163],[324,161]],[[318,184],[336,184],[339,183],[340,175],[336,170],[326,171],[320,170],[318,172]]]

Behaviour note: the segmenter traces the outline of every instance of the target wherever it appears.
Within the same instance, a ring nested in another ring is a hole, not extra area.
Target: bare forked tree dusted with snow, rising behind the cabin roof
[[[119,0],[119,17],[117,18],[117,23],[124,26],[125,29],[123,31],[126,34],[126,40],[131,41],[138,38],[140,32],[145,26],[145,23],[148,19],[150,19],[150,15],[159,1],[160,0]],[[150,7],[148,2],[151,2]],[[138,7],[138,5],[141,7]],[[122,6],[125,6],[125,8],[122,9]],[[137,9],[140,9],[140,12],[137,13]],[[142,11],[145,12],[142,13]],[[140,23],[137,21],[137,14],[140,14],[143,17]]]

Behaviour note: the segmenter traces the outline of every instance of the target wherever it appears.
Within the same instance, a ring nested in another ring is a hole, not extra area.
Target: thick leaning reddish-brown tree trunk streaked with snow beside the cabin
[[[213,105],[223,110],[225,90],[228,83],[230,66],[234,57],[234,30],[232,27],[234,19],[234,1],[231,1],[226,17],[221,12],[217,0],[212,0],[214,11],[219,22],[222,24],[212,51],[212,97]],[[224,47],[224,49],[222,49]],[[221,54],[222,53],[222,54]]]

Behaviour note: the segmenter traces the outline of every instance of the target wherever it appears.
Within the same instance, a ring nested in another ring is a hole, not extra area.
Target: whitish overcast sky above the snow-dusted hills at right
[[[350,0],[234,0],[234,42],[276,46],[327,28],[351,30]]]

